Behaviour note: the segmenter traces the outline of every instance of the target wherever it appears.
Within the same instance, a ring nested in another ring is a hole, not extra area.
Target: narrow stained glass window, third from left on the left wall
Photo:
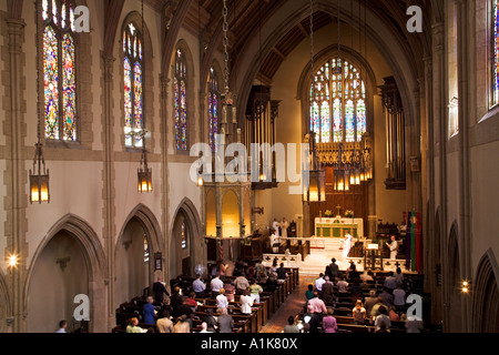
[[[181,49],[175,53],[175,75],[173,79],[173,100],[175,114],[175,143],[177,151],[187,150],[187,65]]]

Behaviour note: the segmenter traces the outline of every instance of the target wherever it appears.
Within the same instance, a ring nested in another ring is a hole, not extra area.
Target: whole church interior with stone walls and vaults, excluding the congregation
[[[197,276],[200,332],[221,274],[263,286],[234,333],[282,333],[333,257],[499,332],[498,0],[3,0],[0,48],[0,333],[124,332]],[[373,332],[354,284],[325,304]]]

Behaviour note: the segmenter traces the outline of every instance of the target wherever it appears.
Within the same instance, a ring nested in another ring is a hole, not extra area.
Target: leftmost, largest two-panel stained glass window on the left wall
[[[47,140],[78,140],[73,1],[43,0],[43,118]]]

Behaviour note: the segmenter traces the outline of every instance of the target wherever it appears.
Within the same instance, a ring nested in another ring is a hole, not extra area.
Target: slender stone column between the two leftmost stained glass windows
[[[102,141],[104,143],[103,162],[103,200],[104,207],[102,216],[104,219],[103,239],[104,250],[108,258],[108,327],[115,325],[114,305],[114,134],[113,134],[113,65],[115,59],[102,53],[103,63],[103,118],[102,118]]]

